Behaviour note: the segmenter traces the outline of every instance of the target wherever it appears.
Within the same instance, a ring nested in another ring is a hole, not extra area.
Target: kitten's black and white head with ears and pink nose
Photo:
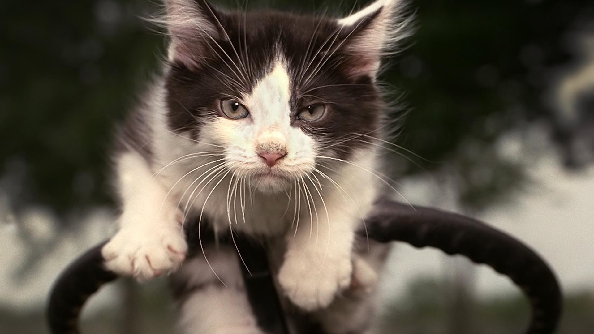
[[[402,0],[345,18],[165,2],[169,127],[197,151],[224,152],[226,168],[276,192],[369,145],[360,135],[386,112],[375,77],[402,37]]]

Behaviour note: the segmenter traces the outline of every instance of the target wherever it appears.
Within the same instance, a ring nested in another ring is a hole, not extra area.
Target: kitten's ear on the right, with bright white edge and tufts
[[[394,53],[400,40],[410,35],[411,17],[406,17],[406,0],[377,0],[338,23],[350,34],[346,49],[355,56],[349,71],[354,76],[375,77],[381,58]]]

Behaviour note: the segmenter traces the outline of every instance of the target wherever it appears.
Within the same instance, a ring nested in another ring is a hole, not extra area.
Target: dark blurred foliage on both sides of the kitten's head
[[[568,61],[564,36],[592,17],[592,2],[411,2],[418,31],[383,80],[405,93],[410,109],[395,142],[433,162],[403,151],[416,164],[398,161],[398,176],[448,166],[462,204],[482,209],[521,184],[523,166],[492,144],[512,128],[552,121],[542,94],[551,69]],[[348,11],[355,1],[248,2],[264,3]],[[113,128],[163,55],[162,36],[139,18],[156,5],[5,0],[2,7],[10,14],[0,21],[0,168],[28,169],[22,203],[64,211],[109,202]]]

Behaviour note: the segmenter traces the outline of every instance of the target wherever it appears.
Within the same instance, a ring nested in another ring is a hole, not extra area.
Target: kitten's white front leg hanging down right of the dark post
[[[296,235],[287,236],[285,260],[279,271],[279,284],[289,300],[306,311],[329,305],[337,292],[349,286],[352,273],[353,216],[357,216],[341,198],[328,196],[325,201],[328,215],[318,205],[320,223],[314,216],[311,234],[308,223],[301,222]]]

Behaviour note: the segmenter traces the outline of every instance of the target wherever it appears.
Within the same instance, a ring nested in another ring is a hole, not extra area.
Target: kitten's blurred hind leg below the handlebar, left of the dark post
[[[206,249],[214,272],[197,254],[172,276],[179,305],[179,326],[185,334],[264,334],[245,294],[235,249]]]

